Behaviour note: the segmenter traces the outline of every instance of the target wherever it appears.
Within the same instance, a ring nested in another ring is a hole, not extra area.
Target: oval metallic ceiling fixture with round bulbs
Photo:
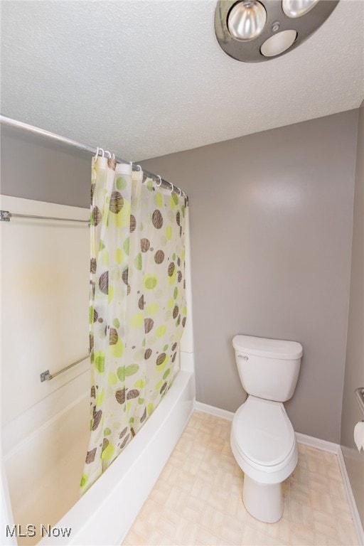
[[[215,33],[230,57],[259,63],[294,50],[339,0],[218,0]]]

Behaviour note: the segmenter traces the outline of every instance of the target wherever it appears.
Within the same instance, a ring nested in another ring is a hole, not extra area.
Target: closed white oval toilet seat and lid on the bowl
[[[282,402],[249,396],[232,421],[231,447],[237,464],[251,478],[284,481],[296,466],[297,446]]]

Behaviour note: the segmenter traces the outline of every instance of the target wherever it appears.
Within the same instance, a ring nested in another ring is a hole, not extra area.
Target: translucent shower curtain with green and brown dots
[[[186,323],[186,198],[92,159],[91,436],[84,493],[164,397]]]

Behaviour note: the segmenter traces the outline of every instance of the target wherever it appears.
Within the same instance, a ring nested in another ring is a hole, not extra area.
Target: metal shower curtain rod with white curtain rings
[[[67,144],[68,146],[73,146],[74,148],[78,148],[80,150],[88,151],[90,154],[96,155],[99,153],[99,148],[93,148],[92,146],[88,146],[88,144],[82,144],[82,142],[77,142],[76,140],[68,139],[66,137],[61,137],[60,134],[55,134],[50,131],[46,131],[45,129],[41,129],[40,127],[35,127],[34,125],[30,125],[28,123],[24,122],[18,122],[17,119],[12,119],[11,117],[6,117],[0,114],[0,123],[4,125],[9,125],[10,127],[16,127],[17,129],[23,129],[23,131],[28,131],[30,133],[39,134],[41,137],[45,137],[47,139],[55,140],[58,142],[61,142],[62,144]],[[127,161],[126,159],[122,159],[120,157],[115,156],[115,160],[117,163],[127,163],[130,164],[130,161]],[[133,171],[139,171],[139,168],[137,165],[132,164]],[[160,176],[149,173],[149,171],[145,171],[142,169],[144,174],[148,176],[149,178],[154,178],[156,181],[161,181],[161,185],[166,189],[171,189],[173,187],[173,191],[176,193],[184,193],[180,188],[177,188],[177,186],[173,186],[172,183],[168,182],[167,180],[164,180],[164,178],[161,178]],[[160,186],[160,184],[159,184]],[[186,193],[184,193],[186,196]],[[186,196],[186,200],[188,200],[188,196]]]

